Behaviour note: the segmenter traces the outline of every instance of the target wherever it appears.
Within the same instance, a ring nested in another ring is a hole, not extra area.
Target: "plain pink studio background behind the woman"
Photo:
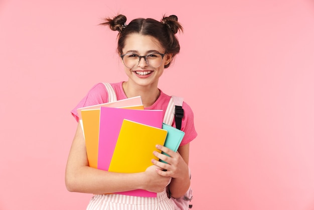
[[[97,26],[118,12],[184,25],[160,87],[194,110],[193,209],[314,209],[309,0],[0,1],[0,209],[85,209],[64,184],[70,110],[126,79],[117,34]]]

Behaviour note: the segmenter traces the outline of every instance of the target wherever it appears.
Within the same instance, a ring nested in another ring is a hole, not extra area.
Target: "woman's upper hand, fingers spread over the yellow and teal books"
[[[156,172],[161,176],[171,176],[173,178],[178,178],[184,176],[184,174],[189,174],[189,167],[184,161],[184,159],[181,157],[181,155],[178,152],[174,152],[171,149],[164,147],[162,145],[156,145],[157,149],[162,150],[167,155],[161,154],[157,151],[154,151],[153,154],[157,158],[166,161],[167,163],[163,163],[161,161],[157,161],[152,159],[151,162],[162,169],[157,169]]]

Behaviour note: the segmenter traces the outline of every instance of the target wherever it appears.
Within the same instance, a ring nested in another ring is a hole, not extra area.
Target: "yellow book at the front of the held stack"
[[[158,160],[152,152],[156,144],[164,145],[167,131],[123,120],[108,171],[120,173],[143,172]]]

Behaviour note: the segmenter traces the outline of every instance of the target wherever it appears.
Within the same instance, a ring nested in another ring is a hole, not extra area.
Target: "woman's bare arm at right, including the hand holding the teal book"
[[[175,198],[182,197],[190,187],[190,175],[188,167],[190,144],[179,147],[178,152],[174,152],[169,148],[161,145],[158,145],[157,148],[170,155],[170,157],[158,152],[154,152],[156,157],[168,163],[167,164],[152,160],[154,165],[166,169],[166,171],[160,169],[157,169],[156,171],[162,176],[171,176],[172,180],[169,184],[171,196]]]

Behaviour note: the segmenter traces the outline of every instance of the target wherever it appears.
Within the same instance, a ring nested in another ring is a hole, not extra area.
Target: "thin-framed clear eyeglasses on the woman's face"
[[[124,55],[120,55],[124,65],[127,68],[135,68],[138,66],[140,59],[144,58],[146,64],[152,68],[158,68],[162,65],[163,58],[166,53],[161,54],[158,52],[148,53],[147,55],[139,56],[135,53],[126,53]]]

